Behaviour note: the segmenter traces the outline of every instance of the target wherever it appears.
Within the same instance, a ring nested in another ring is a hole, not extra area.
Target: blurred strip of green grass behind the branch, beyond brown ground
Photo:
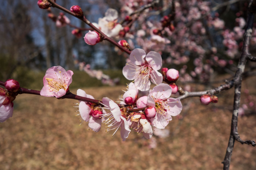
[[[102,70],[103,74],[109,75],[111,79],[120,78],[118,85],[125,85],[130,81],[127,80],[123,74],[122,70]],[[43,77],[46,71],[31,70],[25,67],[17,68],[17,71],[13,74],[11,78],[17,80],[21,87],[27,89],[41,90],[43,87]],[[70,89],[78,89],[83,87],[102,87],[108,86],[102,84],[101,80],[95,77],[90,77],[86,72],[73,70],[74,75],[72,76],[72,83],[70,84]],[[1,81],[4,81],[1,79]]]

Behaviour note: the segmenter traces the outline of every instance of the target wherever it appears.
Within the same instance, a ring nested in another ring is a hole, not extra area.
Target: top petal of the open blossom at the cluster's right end
[[[155,99],[167,99],[172,94],[172,88],[168,84],[158,84],[152,90],[149,91],[150,94],[154,96]]]

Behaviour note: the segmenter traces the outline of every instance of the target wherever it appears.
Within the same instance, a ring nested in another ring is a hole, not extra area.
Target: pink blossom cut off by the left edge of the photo
[[[2,89],[2,88],[1,88]],[[7,105],[4,105],[6,96],[0,95],[0,122],[3,123],[5,120],[13,116],[13,103],[10,102]]]

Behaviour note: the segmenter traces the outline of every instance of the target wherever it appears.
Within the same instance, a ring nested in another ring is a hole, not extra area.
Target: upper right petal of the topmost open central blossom
[[[159,70],[162,67],[162,57],[157,52],[151,51],[147,53],[145,59],[154,70]]]

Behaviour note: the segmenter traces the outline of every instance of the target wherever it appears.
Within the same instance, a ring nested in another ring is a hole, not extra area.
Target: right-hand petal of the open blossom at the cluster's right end
[[[170,103],[174,102],[174,103]],[[170,114],[171,116],[177,116],[180,114],[182,110],[182,104],[179,100],[179,98],[169,98],[167,99],[167,103],[170,106],[169,110],[167,110],[167,113]]]

